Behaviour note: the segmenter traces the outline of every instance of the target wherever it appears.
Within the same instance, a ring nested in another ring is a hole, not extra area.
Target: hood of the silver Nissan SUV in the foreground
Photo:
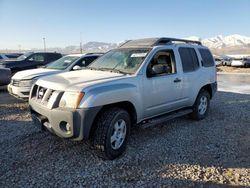
[[[121,77],[125,77],[125,75],[107,71],[79,70],[46,76],[39,79],[36,84],[61,91],[82,91],[88,85]]]

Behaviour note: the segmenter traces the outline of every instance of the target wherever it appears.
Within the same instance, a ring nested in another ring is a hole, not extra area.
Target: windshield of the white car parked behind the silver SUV
[[[79,56],[64,56],[46,66],[48,69],[64,70],[69,67],[73,62],[78,60]]]

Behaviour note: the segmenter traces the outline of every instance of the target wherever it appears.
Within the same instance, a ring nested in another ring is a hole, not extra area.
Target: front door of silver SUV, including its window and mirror
[[[173,50],[161,50],[149,62],[143,78],[144,118],[182,107],[182,74],[175,59]]]

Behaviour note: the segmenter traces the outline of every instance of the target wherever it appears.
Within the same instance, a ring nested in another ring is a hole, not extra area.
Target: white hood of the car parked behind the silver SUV
[[[30,80],[40,76],[47,76],[51,74],[60,73],[62,70],[55,70],[55,69],[45,69],[45,68],[38,68],[38,69],[30,69],[17,72],[12,79],[16,80]]]

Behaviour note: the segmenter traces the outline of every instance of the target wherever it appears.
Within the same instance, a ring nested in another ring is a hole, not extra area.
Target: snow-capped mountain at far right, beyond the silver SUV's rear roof
[[[242,36],[242,35],[229,35],[229,36],[222,36],[218,35],[216,37],[201,39],[196,36],[188,37],[187,39],[190,40],[199,40],[205,46],[214,49],[222,49],[228,47],[237,47],[237,46],[245,46],[250,47],[250,37]]]

